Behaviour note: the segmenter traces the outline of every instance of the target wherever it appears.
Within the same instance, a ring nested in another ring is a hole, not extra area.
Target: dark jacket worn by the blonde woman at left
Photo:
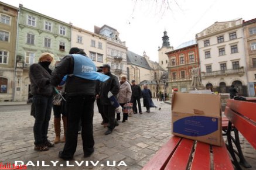
[[[33,96],[52,96],[53,86],[50,84],[50,73],[40,64],[32,64],[29,67],[30,90]]]

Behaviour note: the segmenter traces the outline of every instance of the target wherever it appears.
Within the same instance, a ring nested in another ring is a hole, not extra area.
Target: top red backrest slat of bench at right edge
[[[241,115],[244,115],[245,117],[248,117],[249,119],[256,122],[256,113],[255,113],[256,103],[255,102],[245,102],[240,100],[228,99],[227,106],[230,107],[230,109],[234,110],[235,112],[238,112]]]

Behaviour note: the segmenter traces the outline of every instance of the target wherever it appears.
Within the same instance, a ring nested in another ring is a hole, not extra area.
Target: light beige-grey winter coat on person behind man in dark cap
[[[127,103],[131,101],[132,89],[131,85],[125,81],[123,84],[120,84],[120,91],[118,93],[118,103]]]

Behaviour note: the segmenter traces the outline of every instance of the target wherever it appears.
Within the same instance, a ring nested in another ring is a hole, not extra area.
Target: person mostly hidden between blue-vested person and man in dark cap
[[[100,72],[103,74],[103,67],[98,68],[97,72]],[[98,112],[100,113],[103,122],[101,122],[101,124],[103,124],[104,127],[108,126],[108,117],[105,116],[104,112],[103,112],[103,105],[100,102],[100,92],[101,92],[101,85],[102,82],[100,81],[96,81],[96,102],[97,102],[97,107],[98,107]]]

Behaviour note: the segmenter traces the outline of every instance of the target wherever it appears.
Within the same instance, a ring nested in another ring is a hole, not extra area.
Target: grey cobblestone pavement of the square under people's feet
[[[9,110],[0,106],[0,163],[13,164],[15,161],[23,161],[27,164],[28,161],[32,161],[35,165],[37,163],[42,165],[42,161],[45,161],[45,165],[50,165],[28,166],[28,169],[141,169],[171,135],[171,106],[157,102],[155,99],[153,101],[155,105],[161,107],[161,110],[152,108],[151,113],[146,113],[143,107],[142,115],[128,117],[128,122],[120,122],[120,126],[108,136],[104,135],[106,129],[100,124],[101,117],[95,105],[95,152],[90,158],[83,158],[79,135],[74,160],[69,162],[57,157],[58,152],[63,148],[63,143],[56,144],[45,152],[33,150],[34,119],[30,116],[30,106],[6,106],[10,107]],[[53,116],[50,120],[48,136],[49,140],[53,141]],[[241,138],[245,158],[252,165],[250,169],[256,169],[256,151],[243,137]],[[59,162],[53,166],[50,161]],[[97,165],[94,166],[95,164]],[[107,166],[114,164],[115,166]]]

